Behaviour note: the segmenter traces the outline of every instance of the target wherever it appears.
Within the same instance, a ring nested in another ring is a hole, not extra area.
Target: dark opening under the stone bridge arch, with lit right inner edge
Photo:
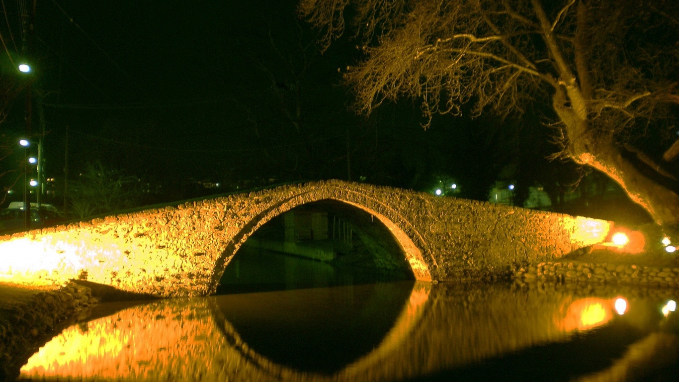
[[[272,264],[265,264],[265,252],[261,249],[316,260],[334,269],[336,275],[352,275],[355,281],[422,279],[412,266],[420,264],[415,259],[421,258],[419,249],[400,228],[388,224],[390,222],[375,211],[335,199],[297,205],[274,216],[246,238],[225,264],[217,293],[235,292],[239,288],[257,290],[256,285],[242,285],[246,280],[270,283],[271,289],[276,289],[276,283],[285,283],[275,281],[282,277],[280,267],[285,262],[276,258],[271,260]],[[272,268],[275,266],[279,268]],[[323,266],[314,269],[323,272]]]

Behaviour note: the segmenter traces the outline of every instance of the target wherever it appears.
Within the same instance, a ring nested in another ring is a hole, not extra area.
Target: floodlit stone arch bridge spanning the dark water
[[[335,201],[388,228],[420,281],[553,260],[600,243],[604,220],[424,192],[318,181],[232,194],[0,237],[0,281],[86,279],[155,296],[214,293],[240,246],[297,206]]]

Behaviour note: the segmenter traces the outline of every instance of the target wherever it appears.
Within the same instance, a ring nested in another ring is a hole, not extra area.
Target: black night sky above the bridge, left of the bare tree
[[[320,54],[296,3],[39,1],[33,133],[41,102],[47,177],[57,186],[63,178],[67,126],[70,174],[98,160],[162,186],[158,201],[217,191],[196,181],[227,192],[349,178],[428,190],[449,179],[483,199],[510,163],[562,184],[576,177],[574,167],[544,160],[551,147],[530,111],[523,122],[436,118],[427,131],[413,101],[356,116],[338,70],[360,58],[355,41]],[[18,60],[16,3],[5,5],[0,32]],[[7,54],[1,63],[5,78],[17,75]],[[23,94],[1,128],[24,131]]]

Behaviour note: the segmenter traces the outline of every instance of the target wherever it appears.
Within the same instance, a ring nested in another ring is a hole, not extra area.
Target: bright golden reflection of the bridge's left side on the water
[[[29,358],[21,376],[145,381],[176,374],[189,381],[206,372],[215,360],[209,354],[224,342],[207,304],[159,302],[67,328]]]

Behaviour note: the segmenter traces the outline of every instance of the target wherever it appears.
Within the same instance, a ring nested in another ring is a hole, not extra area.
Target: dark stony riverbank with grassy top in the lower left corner
[[[90,288],[75,283],[62,288],[0,283],[0,381],[14,381],[41,345],[96,304]]]

